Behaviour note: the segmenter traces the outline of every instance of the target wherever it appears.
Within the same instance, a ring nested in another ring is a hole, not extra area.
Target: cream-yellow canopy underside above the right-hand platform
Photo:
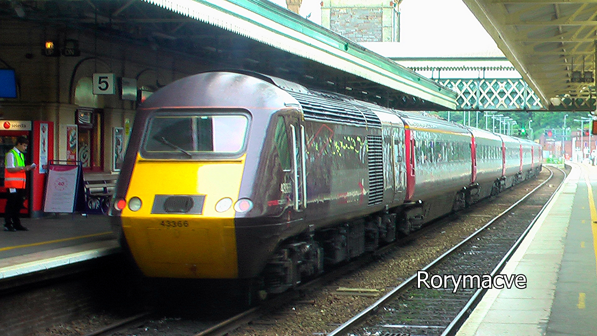
[[[543,106],[595,110],[597,0],[463,1]]]

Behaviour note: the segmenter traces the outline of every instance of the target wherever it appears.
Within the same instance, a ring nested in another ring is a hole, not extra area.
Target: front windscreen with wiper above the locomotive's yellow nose
[[[175,115],[149,122],[144,150],[150,154],[235,154],[245,145],[245,115]]]

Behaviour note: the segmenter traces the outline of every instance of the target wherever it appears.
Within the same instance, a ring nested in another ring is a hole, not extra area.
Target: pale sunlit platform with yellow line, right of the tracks
[[[570,166],[501,271],[524,274],[527,288],[488,289],[457,336],[597,335],[597,167]]]

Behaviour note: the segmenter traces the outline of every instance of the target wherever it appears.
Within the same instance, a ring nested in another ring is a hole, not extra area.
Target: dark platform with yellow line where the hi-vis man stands
[[[21,222],[29,231],[0,231],[0,282],[120,251],[108,216],[69,213]]]

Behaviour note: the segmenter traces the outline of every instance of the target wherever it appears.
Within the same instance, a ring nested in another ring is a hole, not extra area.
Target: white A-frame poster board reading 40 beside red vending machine
[[[44,212],[73,212],[79,167],[51,164],[48,170]]]

